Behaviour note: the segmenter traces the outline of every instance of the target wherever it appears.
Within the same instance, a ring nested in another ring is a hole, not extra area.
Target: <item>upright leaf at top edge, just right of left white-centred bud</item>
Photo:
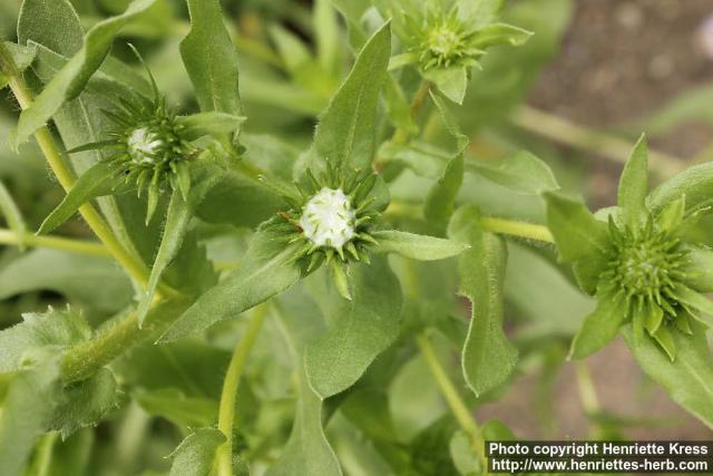
[[[180,57],[201,109],[240,116],[237,51],[225,29],[218,0],[187,0],[191,32],[180,42]]]

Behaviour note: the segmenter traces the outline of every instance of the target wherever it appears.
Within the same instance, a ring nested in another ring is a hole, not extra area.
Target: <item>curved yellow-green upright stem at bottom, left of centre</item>
[[[235,346],[233,358],[223,381],[223,392],[221,394],[218,409],[218,429],[225,436],[225,443],[216,451],[218,476],[233,476],[233,420],[235,420],[237,387],[245,370],[247,357],[262,329],[266,314],[267,304],[261,304],[252,312],[247,331]]]

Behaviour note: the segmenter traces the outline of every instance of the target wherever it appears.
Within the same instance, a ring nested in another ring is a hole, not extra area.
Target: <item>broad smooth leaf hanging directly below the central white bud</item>
[[[340,302],[328,331],[305,351],[310,386],[321,398],[354,385],[399,336],[401,286],[385,259],[354,264],[350,272],[352,300]]]

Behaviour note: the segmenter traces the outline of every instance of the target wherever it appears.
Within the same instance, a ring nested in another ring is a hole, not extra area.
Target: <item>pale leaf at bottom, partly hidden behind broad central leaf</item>
[[[301,286],[281,295],[276,309],[296,367],[297,404],[290,439],[266,476],[341,476],[336,456],[322,427],[323,402],[310,388],[304,367],[305,346],[324,330],[321,312]]]

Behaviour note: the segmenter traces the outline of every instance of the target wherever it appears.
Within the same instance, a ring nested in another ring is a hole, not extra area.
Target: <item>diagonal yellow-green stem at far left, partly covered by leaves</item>
[[[27,109],[32,104],[32,95],[27,88],[22,76],[17,71],[17,67],[12,57],[4,46],[0,43],[0,64],[6,65],[10,77],[9,84],[21,109]],[[75,177],[69,166],[62,159],[62,156],[55,144],[55,139],[49,129],[43,126],[35,133],[35,139],[42,150],[52,172],[57,176],[59,184],[69,192],[75,184]],[[137,256],[124,249],[121,243],[111,232],[111,229],[96,208],[86,203],[79,207],[79,213],[85,218],[91,231],[97,235],[99,241],[104,243],[114,259],[124,266],[124,269],[141,285],[148,282],[148,269]]]

